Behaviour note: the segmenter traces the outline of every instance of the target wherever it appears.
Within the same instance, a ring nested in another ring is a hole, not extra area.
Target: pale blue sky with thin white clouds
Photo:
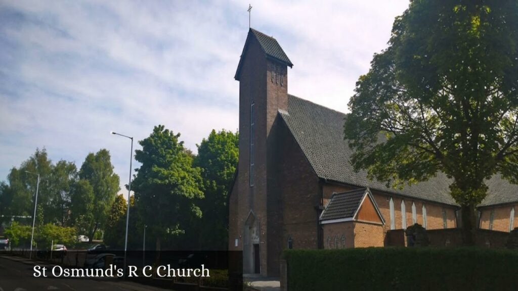
[[[0,0],[0,181],[36,148],[78,168],[106,148],[124,189],[130,140],[112,130],[138,149],[163,124],[193,152],[212,129],[235,132],[249,4],[294,64],[288,92],[347,112],[409,4],[250,1]]]

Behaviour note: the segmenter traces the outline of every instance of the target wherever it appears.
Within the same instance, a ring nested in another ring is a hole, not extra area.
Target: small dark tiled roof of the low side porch
[[[353,218],[366,191],[366,188],[362,188],[333,194],[333,197],[331,197],[331,200],[329,200],[329,203],[322,212],[320,220]]]

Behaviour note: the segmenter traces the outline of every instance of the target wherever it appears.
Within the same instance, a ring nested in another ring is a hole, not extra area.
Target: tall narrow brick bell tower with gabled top
[[[292,66],[275,38],[250,28],[234,77],[239,81],[239,163],[234,185],[238,219],[235,234],[229,234],[232,249],[243,251],[244,273],[279,272],[282,215],[276,203],[273,149],[278,112],[287,109],[287,67]]]

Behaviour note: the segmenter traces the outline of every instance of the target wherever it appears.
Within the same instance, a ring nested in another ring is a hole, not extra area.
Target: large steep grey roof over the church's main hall
[[[343,139],[343,123],[346,114],[308,100],[288,95],[286,111],[279,111],[281,118],[297,140],[319,178],[359,187],[369,187],[401,196],[457,205],[450,196],[451,180],[445,174],[426,182],[405,186],[402,190],[387,187],[384,182],[367,179],[367,172],[355,172],[350,163],[352,150]],[[510,184],[499,176],[487,181],[489,193],[480,206],[518,201],[518,185]]]

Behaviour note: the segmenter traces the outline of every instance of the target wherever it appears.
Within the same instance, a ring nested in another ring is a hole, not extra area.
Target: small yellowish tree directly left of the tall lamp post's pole
[[[104,242],[112,247],[124,245],[126,231],[126,199],[123,195],[117,195],[111,205],[108,222],[104,232]]]

